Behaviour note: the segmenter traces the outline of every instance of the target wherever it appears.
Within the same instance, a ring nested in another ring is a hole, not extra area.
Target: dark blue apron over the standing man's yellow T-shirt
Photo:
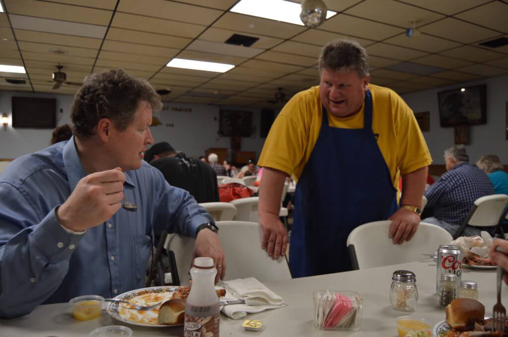
[[[397,210],[390,170],[372,131],[372,99],[365,94],[363,129],[328,125],[296,185],[290,245],[293,277],[351,270],[347,236],[363,223],[386,220]],[[388,235],[388,233],[387,233]]]

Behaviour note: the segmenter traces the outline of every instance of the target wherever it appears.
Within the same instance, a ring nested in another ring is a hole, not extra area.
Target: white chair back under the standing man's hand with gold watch
[[[353,269],[374,268],[425,259],[439,245],[452,242],[452,235],[435,224],[420,222],[410,241],[393,244],[388,237],[391,220],[374,221],[355,228],[347,237]]]

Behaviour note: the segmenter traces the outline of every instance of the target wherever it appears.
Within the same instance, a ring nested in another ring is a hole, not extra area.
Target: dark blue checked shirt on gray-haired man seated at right
[[[491,194],[494,186],[487,174],[469,163],[460,163],[425,191],[426,207],[433,207],[433,215],[439,220],[462,224],[474,201]]]

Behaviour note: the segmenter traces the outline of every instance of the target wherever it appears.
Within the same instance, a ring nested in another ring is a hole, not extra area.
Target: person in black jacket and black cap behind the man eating
[[[207,163],[187,158],[166,141],[147,149],[145,160],[161,171],[170,185],[188,191],[198,203],[219,201],[217,176]]]

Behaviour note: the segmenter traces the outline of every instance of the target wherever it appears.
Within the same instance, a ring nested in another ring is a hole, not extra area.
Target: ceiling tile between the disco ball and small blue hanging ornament
[[[360,19],[346,14],[338,14],[326,20],[320,26],[320,29],[376,41],[384,40],[404,32],[402,28]]]

